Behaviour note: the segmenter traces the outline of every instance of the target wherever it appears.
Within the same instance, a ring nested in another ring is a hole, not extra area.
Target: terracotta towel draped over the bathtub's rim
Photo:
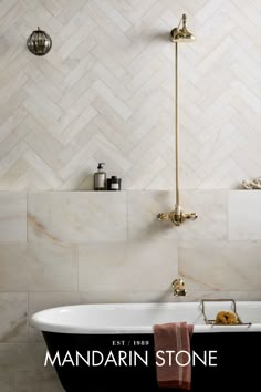
[[[159,367],[156,364],[157,382],[159,388],[177,388],[190,390],[191,388],[191,364],[180,367],[175,361],[175,357],[179,351],[187,351],[190,353],[190,338],[194,331],[194,326],[187,322],[171,322],[166,324],[154,326],[154,344],[155,354],[161,350],[160,358],[165,359],[165,364]],[[169,354],[167,350],[173,350],[171,365],[169,365]],[[187,363],[189,360],[186,353],[178,354],[179,363]],[[156,358],[158,363],[161,360]]]

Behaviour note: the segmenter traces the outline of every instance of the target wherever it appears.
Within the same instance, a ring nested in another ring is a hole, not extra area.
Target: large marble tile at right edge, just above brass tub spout
[[[260,291],[261,241],[179,244],[179,275],[190,291]]]

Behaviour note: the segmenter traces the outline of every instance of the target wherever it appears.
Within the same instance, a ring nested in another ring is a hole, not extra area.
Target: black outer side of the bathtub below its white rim
[[[87,351],[100,351],[106,358],[109,351],[115,357],[119,350],[136,351],[140,357],[148,353],[148,363],[137,362],[134,367],[88,367],[55,364],[59,379],[66,392],[156,392],[177,391],[159,389],[156,381],[156,364],[153,334],[69,334],[43,332],[48,351],[52,358],[59,351],[65,358],[75,352],[84,358]],[[192,367],[191,391],[237,391],[258,392],[261,388],[261,332],[215,332],[194,333],[191,350],[203,357],[203,351],[217,351],[217,367],[205,367],[197,361]]]

